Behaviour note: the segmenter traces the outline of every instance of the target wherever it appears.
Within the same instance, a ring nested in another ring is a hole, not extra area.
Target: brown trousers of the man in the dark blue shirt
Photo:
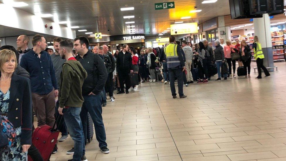
[[[33,108],[38,119],[38,126],[54,126],[55,123],[55,93],[54,89],[49,94],[32,93]]]

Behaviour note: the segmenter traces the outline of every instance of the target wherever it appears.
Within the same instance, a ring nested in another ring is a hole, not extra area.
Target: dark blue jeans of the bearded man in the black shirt
[[[84,104],[81,108],[81,121],[84,130],[84,138],[86,138],[86,120],[87,120],[87,112],[89,112],[95,129],[96,139],[99,143],[99,148],[107,146],[106,135],[105,135],[105,128],[102,120],[102,101],[101,101],[101,94],[98,95],[89,95],[83,96],[84,97]]]

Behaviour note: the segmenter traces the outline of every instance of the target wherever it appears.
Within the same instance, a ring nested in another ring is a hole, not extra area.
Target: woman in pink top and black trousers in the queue
[[[235,77],[235,63],[236,60],[231,60],[231,52],[236,52],[234,50],[235,46],[231,44],[231,41],[229,39],[227,39],[226,41],[227,45],[224,45],[224,57],[225,60],[227,61],[228,64],[228,70],[229,70],[229,74],[230,74],[230,78],[232,79],[232,76]],[[232,62],[232,69],[233,69],[233,74],[231,74],[231,62]]]

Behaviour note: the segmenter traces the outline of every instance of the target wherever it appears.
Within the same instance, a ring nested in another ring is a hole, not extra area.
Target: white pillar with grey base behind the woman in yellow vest
[[[253,18],[254,34],[258,36],[261,48],[264,54],[263,65],[265,67],[273,67],[273,50],[270,32],[270,17],[268,14],[263,14],[262,18]],[[269,71],[273,71],[270,69]]]

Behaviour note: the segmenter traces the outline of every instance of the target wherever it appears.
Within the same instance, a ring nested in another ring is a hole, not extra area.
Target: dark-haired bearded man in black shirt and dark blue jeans
[[[107,70],[103,60],[88,50],[89,41],[86,37],[80,36],[74,39],[74,49],[78,54],[75,58],[78,60],[87,72],[87,78],[82,85],[82,96],[84,103],[81,108],[81,123],[84,130],[86,142],[86,120],[89,112],[95,128],[96,139],[99,148],[103,153],[109,153],[107,148],[105,128],[102,120],[102,101],[101,91],[107,80]]]

